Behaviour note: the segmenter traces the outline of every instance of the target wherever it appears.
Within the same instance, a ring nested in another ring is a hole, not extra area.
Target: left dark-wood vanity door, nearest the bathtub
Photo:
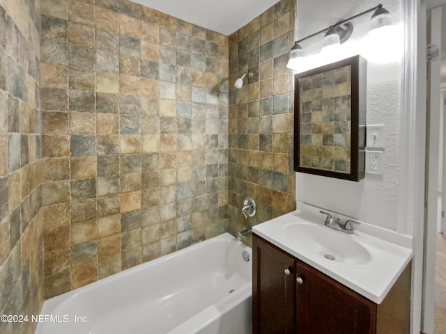
[[[252,238],[252,333],[295,333],[295,259]]]

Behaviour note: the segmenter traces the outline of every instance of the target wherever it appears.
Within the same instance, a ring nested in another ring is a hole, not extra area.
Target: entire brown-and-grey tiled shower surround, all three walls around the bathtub
[[[3,314],[293,209],[293,1],[229,37],[126,0],[0,5]]]

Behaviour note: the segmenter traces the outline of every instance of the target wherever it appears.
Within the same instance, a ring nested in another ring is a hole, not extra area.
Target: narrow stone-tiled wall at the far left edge
[[[40,312],[39,0],[0,0],[0,314]],[[0,322],[0,333],[36,324]]]

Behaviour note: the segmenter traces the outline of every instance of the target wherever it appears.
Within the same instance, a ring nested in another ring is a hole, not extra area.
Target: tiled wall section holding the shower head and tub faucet
[[[229,36],[229,230],[233,234],[295,207],[293,73],[295,1],[282,0]],[[243,88],[233,87],[245,77]],[[245,220],[243,198],[258,212]]]

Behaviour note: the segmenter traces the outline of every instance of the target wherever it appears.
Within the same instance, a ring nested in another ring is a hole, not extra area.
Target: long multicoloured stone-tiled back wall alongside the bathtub
[[[43,0],[45,297],[227,230],[228,38]]]

